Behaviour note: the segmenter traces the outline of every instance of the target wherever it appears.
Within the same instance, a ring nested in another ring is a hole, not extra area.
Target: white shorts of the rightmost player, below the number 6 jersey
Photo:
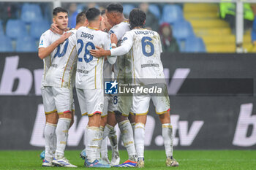
[[[167,93],[166,85],[164,87],[163,93],[159,95],[150,96],[149,94],[132,96],[132,115],[146,115],[148,113],[148,108],[150,104],[150,99],[152,99],[154,107],[156,108],[157,115],[161,115],[165,112],[170,111],[170,98]]]

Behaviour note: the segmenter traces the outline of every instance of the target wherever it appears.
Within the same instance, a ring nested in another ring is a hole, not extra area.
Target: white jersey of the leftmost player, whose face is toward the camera
[[[61,37],[61,35],[59,34],[55,34],[52,31],[48,30],[45,31],[42,36],[40,37],[39,40],[39,47],[38,48],[42,48],[42,47],[48,47],[51,44],[53,44],[53,42],[55,42],[57,39],[59,39]],[[50,68],[52,61],[53,61],[53,57],[55,55],[55,53],[57,52],[57,48],[53,50],[52,53],[50,53],[50,55],[46,58],[43,59],[44,62],[44,72],[42,74],[42,86],[45,85],[45,76],[46,73],[48,72],[48,69]]]

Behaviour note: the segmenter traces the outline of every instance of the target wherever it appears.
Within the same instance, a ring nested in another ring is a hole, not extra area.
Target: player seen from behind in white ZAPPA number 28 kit
[[[96,46],[110,49],[110,39],[107,33],[100,31],[101,16],[99,9],[90,8],[86,11],[88,27],[78,29],[77,50],[78,67],[75,79],[75,87],[82,115],[89,116],[86,127],[86,155],[84,165],[86,167],[110,167],[99,162],[99,146],[102,142],[102,134],[99,129],[102,109],[104,106],[103,96],[103,64],[104,58],[94,58],[90,50]],[[113,64],[116,58],[108,58]]]

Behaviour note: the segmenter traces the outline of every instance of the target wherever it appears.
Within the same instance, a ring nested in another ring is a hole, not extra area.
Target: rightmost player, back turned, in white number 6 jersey
[[[140,9],[132,9],[129,14],[129,23],[132,28],[127,31],[122,39],[120,47],[111,50],[91,50],[91,55],[127,55],[132,56],[133,81],[146,87],[162,85],[164,96],[134,95],[132,97],[132,112],[135,116],[135,146],[138,152],[137,167],[144,167],[144,140],[146,114],[149,101],[152,99],[156,107],[157,115],[162,123],[162,136],[165,143],[166,166],[178,166],[173,158],[173,130],[170,124],[170,99],[167,95],[165,75],[160,59],[162,45],[159,34],[156,31],[143,29],[146,14]],[[111,42],[117,43],[118,39],[111,35]],[[148,64],[150,63],[150,64]],[[148,81],[149,80],[149,81]],[[152,80],[157,84],[152,84]],[[159,84],[158,84],[159,83]]]

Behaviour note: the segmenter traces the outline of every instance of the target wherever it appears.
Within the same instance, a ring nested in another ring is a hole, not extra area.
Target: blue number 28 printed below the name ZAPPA
[[[83,40],[82,39],[78,39],[78,44],[80,44],[80,48],[78,49],[78,56],[79,54],[82,52],[83,50]],[[94,43],[92,42],[87,42],[85,47],[84,47],[84,50],[85,50],[85,53],[83,55],[83,58],[78,58],[78,61],[79,62],[83,62],[83,59],[84,61],[86,61],[86,63],[89,63],[90,61],[92,61],[92,59],[94,58],[94,56],[92,56],[90,54],[90,50],[88,50],[88,47],[91,47],[91,50],[95,50],[95,45]],[[87,57],[88,56],[88,57]]]

